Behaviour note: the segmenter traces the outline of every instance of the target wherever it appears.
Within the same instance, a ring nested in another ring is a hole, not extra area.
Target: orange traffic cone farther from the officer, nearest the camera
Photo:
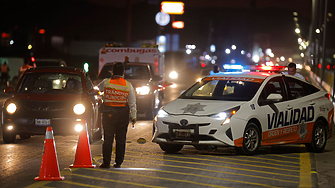
[[[59,165],[52,127],[47,127],[40,174],[38,177],[35,177],[35,181],[53,180],[64,180],[64,177],[61,177],[59,173]]]

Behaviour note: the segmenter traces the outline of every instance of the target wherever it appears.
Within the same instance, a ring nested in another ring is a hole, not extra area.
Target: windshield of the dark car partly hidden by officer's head
[[[113,65],[105,65],[101,69],[98,79],[105,79],[105,78],[111,77],[112,70],[113,70]],[[125,79],[149,80],[150,79],[149,69],[146,64],[126,65],[124,78]]]

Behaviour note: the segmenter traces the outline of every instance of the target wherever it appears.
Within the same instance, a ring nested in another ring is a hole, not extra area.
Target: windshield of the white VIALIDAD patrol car
[[[180,99],[249,101],[261,83],[240,80],[203,80],[197,82]]]

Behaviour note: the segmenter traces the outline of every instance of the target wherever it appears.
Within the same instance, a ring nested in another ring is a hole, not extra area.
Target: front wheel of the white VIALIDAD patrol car
[[[260,130],[255,123],[248,123],[243,134],[242,152],[245,155],[253,155],[260,146]]]

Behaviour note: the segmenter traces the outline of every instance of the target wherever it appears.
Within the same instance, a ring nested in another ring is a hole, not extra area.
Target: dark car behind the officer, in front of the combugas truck
[[[111,77],[113,64],[106,63],[102,67],[95,85]],[[163,86],[159,83],[162,77],[154,74],[149,63],[127,63],[124,78],[134,87],[139,117],[145,114],[145,118],[152,119],[164,99]]]

